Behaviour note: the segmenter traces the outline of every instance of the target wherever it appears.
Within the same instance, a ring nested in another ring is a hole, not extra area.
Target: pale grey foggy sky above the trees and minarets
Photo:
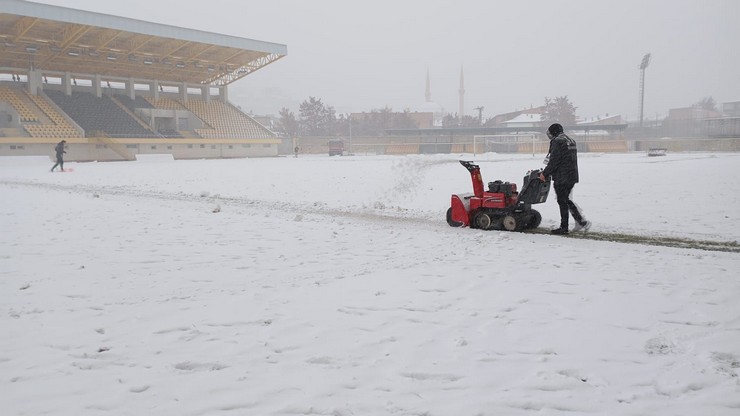
[[[317,97],[338,113],[425,100],[483,118],[567,95],[584,118],[664,117],[711,96],[740,100],[737,0],[43,0],[98,13],[285,44],[288,56],[230,85],[245,111],[298,113]],[[173,8],[171,5],[176,5]]]

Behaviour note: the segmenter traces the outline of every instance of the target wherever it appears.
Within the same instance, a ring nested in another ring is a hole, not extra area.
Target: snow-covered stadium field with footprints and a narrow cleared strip
[[[0,413],[740,414],[740,254],[451,228],[458,159],[0,159]],[[582,154],[575,200],[736,241],[739,163]]]

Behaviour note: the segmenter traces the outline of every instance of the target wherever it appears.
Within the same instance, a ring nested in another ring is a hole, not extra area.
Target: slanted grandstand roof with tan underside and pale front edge
[[[0,1],[0,69],[230,84],[285,45],[22,0]]]

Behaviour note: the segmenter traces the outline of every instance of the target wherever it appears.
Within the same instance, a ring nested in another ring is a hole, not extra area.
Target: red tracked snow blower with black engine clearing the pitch
[[[519,192],[515,183],[500,180],[488,182],[488,191],[485,191],[480,167],[463,160],[460,164],[470,172],[473,193],[452,195],[451,206],[447,210],[450,226],[522,231],[540,225],[542,215],[532,209],[532,205],[547,201],[550,192],[550,178],[540,181],[542,169],[527,172]]]

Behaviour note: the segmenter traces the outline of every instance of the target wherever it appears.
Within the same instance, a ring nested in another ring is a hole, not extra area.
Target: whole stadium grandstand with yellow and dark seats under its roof
[[[0,155],[68,160],[276,156],[229,102],[285,45],[22,0],[0,1]]]

